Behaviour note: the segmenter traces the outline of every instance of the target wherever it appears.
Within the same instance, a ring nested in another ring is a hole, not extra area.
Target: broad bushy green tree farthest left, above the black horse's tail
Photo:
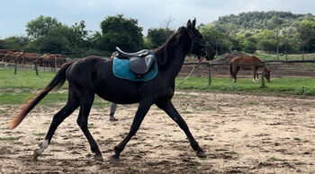
[[[56,18],[40,15],[27,23],[26,31],[31,37],[28,48],[36,48],[40,52],[81,54],[89,46],[84,21],[69,27]]]

